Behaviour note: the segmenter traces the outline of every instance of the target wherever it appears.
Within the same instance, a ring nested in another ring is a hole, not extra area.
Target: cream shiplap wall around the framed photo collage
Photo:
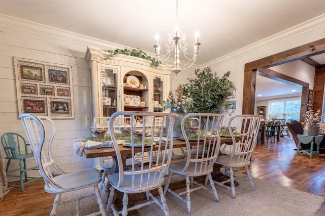
[[[0,135],[16,132],[25,136],[18,117],[14,56],[72,66],[75,119],[53,120],[56,124],[53,156],[67,171],[91,166],[91,159],[77,156],[72,148],[75,139],[89,136],[91,123],[86,49],[86,44],[73,40],[0,25]],[[27,163],[36,164],[34,158]],[[18,163],[13,164],[18,168]]]

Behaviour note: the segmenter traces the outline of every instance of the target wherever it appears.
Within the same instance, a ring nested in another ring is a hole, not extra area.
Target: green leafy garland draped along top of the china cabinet
[[[134,57],[151,61],[151,66],[153,67],[157,67],[161,63],[160,61],[156,60],[156,58],[151,58],[150,56],[147,56],[147,53],[140,50],[139,48],[132,49],[132,50],[127,50],[127,49],[107,50],[106,52],[109,53],[106,59],[110,59],[118,54],[123,54],[125,56],[134,56]]]

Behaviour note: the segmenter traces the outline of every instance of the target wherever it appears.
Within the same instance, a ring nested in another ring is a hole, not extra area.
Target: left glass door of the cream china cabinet
[[[111,116],[117,111],[116,73],[112,69],[102,69],[103,116]]]

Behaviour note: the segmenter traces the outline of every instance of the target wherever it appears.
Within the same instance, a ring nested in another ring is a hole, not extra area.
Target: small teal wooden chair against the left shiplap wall
[[[26,158],[34,158],[34,154],[28,152],[28,145],[25,141],[25,139],[17,134],[17,133],[5,133],[1,136],[1,143],[5,149],[6,152],[6,159],[8,159],[7,166],[6,166],[6,174],[7,177],[15,177],[12,180],[20,179],[20,186],[11,185],[11,187],[19,188],[21,191],[24,191],[24,185],[34,182],[38,179],[41,179],[40,177],[28,177],[27,171],[29,170],[38,170],[38,165],[27,167],[26,165]],[[12,169],[9,170],[10,162],[11,160],[19,160],[19,168],[18,169]],[[18,174],[14,174],[14,172],[17,172],[19,170],[19,176]],[[11,180],[11,181],[12,181]],[[25,182],[24,182],[25,180]]]

